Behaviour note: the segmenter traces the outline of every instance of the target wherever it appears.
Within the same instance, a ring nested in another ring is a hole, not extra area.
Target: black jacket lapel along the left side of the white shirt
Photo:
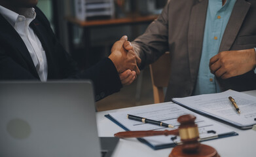
[[[39,79],[33,60],[27,50],[26,44],[24,43],[20,35],[16,32],[14,27],[12,27],[9,24],[9,22],[5,20],[5,18],[1,14],[0,22],[0,39],[3,40],[4,43],[10,44],[12,48],[16,48],[17,52],[19,52],[22,55],[27,65],[31,68],[32,71],[30,72],[33,73],[33,75]]]

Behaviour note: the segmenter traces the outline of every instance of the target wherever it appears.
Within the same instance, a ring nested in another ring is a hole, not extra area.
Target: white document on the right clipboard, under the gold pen
[[[229,96],[234,98],[241,114],[236,112],[229,101]],[[256,124],[256,97],[234,90],[227,90],[218,94],[174,98],[173,101],[200,113],[224,120],[238,128],[252,128]]]

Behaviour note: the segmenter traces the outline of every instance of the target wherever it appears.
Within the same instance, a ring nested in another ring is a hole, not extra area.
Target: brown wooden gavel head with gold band
[[[191,114],[179,116],[177,119],[181,124],[178,130],[183,142],[183,152],[196,152],[200,147],[198,126],[194,123],[194,120],[196,120],[196,117]]]

